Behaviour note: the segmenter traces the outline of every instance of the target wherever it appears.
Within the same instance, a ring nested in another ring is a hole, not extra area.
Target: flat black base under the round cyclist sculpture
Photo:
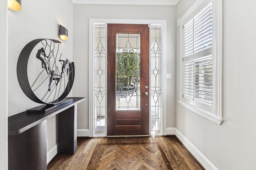
[[[48,111],[56,109],[59,106],[68,105],[72,101],[73,101],[73,99],[64,99],[61,102],[58,102],[55,104],[43,104],[43,105],[28,109],[28,110],[26,110],[26,112],[27,113],[46,113]]]

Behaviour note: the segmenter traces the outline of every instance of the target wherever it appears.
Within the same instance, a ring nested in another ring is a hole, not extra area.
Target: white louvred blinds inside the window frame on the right
[[[184,97],[212,105],[212,2],[184,24]],[[190,104],[192,104],[190,102]]]

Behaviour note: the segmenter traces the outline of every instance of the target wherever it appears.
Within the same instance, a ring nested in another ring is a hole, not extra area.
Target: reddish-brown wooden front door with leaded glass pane
[[[149,135],[149,27],[108,24],[107,136]]]

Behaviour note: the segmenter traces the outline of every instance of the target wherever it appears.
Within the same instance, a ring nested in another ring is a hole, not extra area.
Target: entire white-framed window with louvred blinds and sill
[[[181,106],[218,124],[223,121],[219,70],[222,57],[221,11],[221,1],[196,0],[180,18],[182,62],[179,102]]]

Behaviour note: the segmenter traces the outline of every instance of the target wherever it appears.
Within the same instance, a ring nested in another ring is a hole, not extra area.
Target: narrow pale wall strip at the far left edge
[[[8,10],[0,1],[0,169],[8,169]]]

